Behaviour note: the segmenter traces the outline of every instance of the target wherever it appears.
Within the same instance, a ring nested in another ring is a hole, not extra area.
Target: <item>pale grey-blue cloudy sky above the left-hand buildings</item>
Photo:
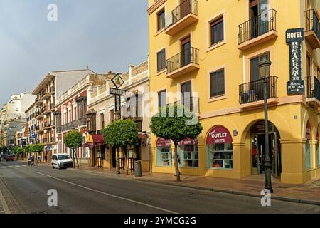
[[[58,9],[57,21],[50,4]],[[0,105],[49,71],[126,72],[146,61],[146,0],[0,0]]]

